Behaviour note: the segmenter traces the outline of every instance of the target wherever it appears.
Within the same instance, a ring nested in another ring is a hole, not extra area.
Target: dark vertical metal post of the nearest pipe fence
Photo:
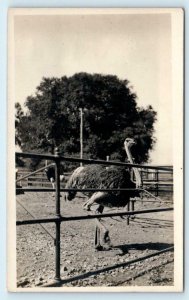
[[[56,216],[60,217],[60,161],[58,148],[55,148],[55,179],[56,179]],[[61,222],[56,221],[56,240],[55,240],[55,280],[60,282],[60,225]]]

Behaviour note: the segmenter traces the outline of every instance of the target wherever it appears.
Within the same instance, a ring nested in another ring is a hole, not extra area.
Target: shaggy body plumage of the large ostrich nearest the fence
[[[131,181],[129,169],[123,167],[104,167],[101,165],[86,165],[75,170],[66,184],[66,188],[99,188],[99,189],[118,189],[117,191],[107,192],[106,206],[121,207],[125,206],[130,198],[138,197],[138,191],[119,189],[134,189],[135,183]],[[84,192],[91,197],[94,192]]]

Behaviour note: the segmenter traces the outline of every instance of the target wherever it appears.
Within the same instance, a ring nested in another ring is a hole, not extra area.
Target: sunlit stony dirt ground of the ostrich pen
[[[52,193],[28,192],[17,196],[17,220],[55,216]],[[163,198],[171,200],[171,196]],[[147,199],[146,199],[147,200]],[[148,199],[152,200],[152,199]],[[86,215],[84,198],[65,202],[63,216]],[[135,209],[172,206],[157,202],[137,202]],[[121,211],[123,211],[122,209]],[[105,212],[110,209],[105,210]],[[111,212],[116,212],[111,210]],[[66,287],[92,286],[171,286],[174,284],[172,251],[129,265],[126,262],[173,246],[173,212],[137,215],[130,224],[126,219],[104,219],[110,230],[112,250],[95,251],[95,220],[61,224],[61,278]],[[55,224],[43,225],[52,237]],[[17,286],[45,286],[54,280],[55,247],[53,238],[40,225],[17,226]],[[79,276],[82,275],[82,276]],[[70,280],[71,279],[71,280]]]

